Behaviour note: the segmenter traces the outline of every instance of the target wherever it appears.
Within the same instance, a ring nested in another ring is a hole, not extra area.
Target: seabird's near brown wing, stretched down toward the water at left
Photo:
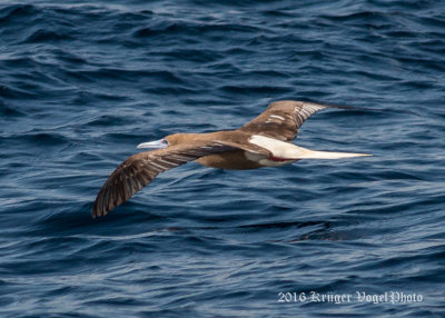
[[[126,202],[137,191],[150,183],[158,173],[200,157],[239,149],[269,155],[267,150],[255,145],[249,145],[246,148],[245,145],[248,143],[238,143],[238,140],[224,140],[224,132],[220,133],[220,140],[182,143],[129,157],[105,181],[93,203],[92,217],[105,216],[117,206]],[[235,132],[230,136],[241,139],[248,138],[243,132]]]

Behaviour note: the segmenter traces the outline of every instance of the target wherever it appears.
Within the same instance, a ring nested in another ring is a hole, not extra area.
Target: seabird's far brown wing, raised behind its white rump
[[[297,137],[298,129],[306,119],[325,108],[329,106],[296,100],[276,101],[238,130],[290,141]]]

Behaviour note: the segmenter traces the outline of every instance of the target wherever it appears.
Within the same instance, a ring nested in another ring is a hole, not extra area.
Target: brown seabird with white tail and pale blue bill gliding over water
[[[300,159],[340,159],[365,153],[314,151],[290,141],[312,115],[333,106],[283,100],[237,130],[175,133],[137,148],[157,150],[129,157],[108,177],[92,207],[92,217],[107,215],[150,183],[158,173],[197,161],[219,169],[279,167]],[[334,107],[338,108],[338,107]]]

